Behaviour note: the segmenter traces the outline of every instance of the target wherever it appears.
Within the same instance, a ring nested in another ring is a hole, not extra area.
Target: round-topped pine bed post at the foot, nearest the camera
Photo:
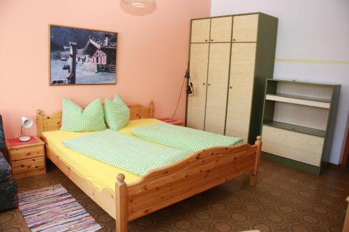
[[[117,183],[115,184],[117,232],[127,232],[127,185],[124,180],[124,174],[117,174]]]

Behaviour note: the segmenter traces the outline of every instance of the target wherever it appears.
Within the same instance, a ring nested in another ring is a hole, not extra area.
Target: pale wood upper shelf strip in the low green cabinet
[[[300,95],[290,95],[290,94],[267,94],[265,96],[266,100],[273,100],[276,102],[287,102],[292,104],[298,104],[298,105],[307,105],[310,107],[320,107],[329,109],[329,106],[331,105],[331,101],[327,99],[322,98],[311,98],[306,96],[300,96]]]

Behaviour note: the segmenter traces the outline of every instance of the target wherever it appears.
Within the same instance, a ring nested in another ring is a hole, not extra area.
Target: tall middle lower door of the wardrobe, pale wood
[[[205,130],[217,134],[224,134],[225,129],[230,45],[231,43],[209,45]]]

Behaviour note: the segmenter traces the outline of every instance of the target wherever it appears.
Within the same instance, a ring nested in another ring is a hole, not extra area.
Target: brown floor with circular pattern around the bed
[[[114,231],[114,220],[61,171],[18,181],[20,191],[61,183],[84,208]],[[262,160],[258,185],[242,176],[141,217],[129,231],[341,231],[349,195],[349,171],[327,169],[321,176]],[[18,210],[0,214],[0,231],[27,231]]]

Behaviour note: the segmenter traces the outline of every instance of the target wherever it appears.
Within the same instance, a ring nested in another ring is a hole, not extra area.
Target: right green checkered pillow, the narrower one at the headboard
[[[112,101],[105,99],[104,118],[110,129],[121,130],[130,120],[130,109],[118,95],[115,95]]]

